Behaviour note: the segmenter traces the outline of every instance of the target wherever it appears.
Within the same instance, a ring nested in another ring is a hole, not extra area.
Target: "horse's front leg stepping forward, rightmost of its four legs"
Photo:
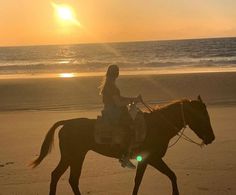
[[[161,173],[165,174],[167,177],[169,177],[172,183],[172,190],[173,190],[172,195],[179,195],[179,190],[177,186],[177,177],[175,173],[167,166],[167,164],[161,158],[151,159],[149,164],[152,165]]]

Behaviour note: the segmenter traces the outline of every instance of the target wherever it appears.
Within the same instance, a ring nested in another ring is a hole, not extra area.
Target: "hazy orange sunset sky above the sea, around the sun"
[[[52,2],[82,26],[61,23]],[[235,0],[0,0],[0,46],[236,36]]]

